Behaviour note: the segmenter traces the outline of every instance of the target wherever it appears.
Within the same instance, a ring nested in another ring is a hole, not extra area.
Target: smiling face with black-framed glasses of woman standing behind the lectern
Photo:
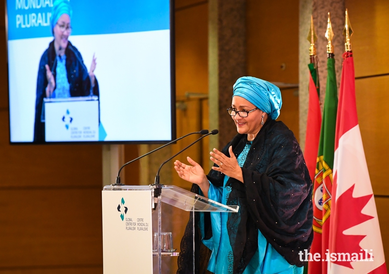
[[[254,104],[250,103],[246,99],[240,96],[232,97],[232,108],[236,111],[250,111],[256,108]],[[259,108],[250,112],[247,117],[240,117],[237,113],[235,116],[231,116],[237,126],[237,131],[240,134],[256,134],[262,125],[262,115],[266,115],[265,112]]]

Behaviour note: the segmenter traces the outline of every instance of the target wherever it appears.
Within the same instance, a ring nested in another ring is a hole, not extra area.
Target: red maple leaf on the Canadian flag
[[[336,230],[334,237],[335,244],[334,250],[331,250],[331,252],[348,253],[350,254],[350,259],[352,257],[352,253],[357,253],[358,259],[361,260],[359,253],[363,253],[363,259],[365,259],[365,252],[361,251],[362,248],[361,246],[359,246],[359,243],[364,237],[366,237],[366,235],[345,235],[343,234],[343,232],[353,226],[359,225],[367,220],[374,218],[373,216],[368,216],[361,212],[365,205],[369,202],[373,194],[354,198],[352,196],[354,186],[355,184],[352,185],[349,189],[347,189],[336,200],[336,213],[334,214],[336,219],[333,220],[336,222],[336,225],[333,226],[333,228],[335,228]],[[343,259],[343,257],[339,257],[340,256],[338,255],[338,260],[333,263],[353,269],[353,267],[351,266],[351,262],[340,261],[341,259]],[[347,256],[345,259],[347,260]]]

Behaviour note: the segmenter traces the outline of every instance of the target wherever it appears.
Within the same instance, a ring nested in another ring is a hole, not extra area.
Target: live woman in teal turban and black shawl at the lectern
[[[175,161],[193,192],[239,206],[238,213],[196,214],[196,273],[303,273],[298,253],[309,251],[313,238],[312,182],[292,131],[275,121],[281,105],[272,83],[239,78],[228,109],[238,134],[210,152],[209,174],[189,157],[190,165]],[[190,220],[177,273],[192,269],[191,226]]]

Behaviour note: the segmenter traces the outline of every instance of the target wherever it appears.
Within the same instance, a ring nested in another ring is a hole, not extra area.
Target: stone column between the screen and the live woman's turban
[[[209,0],[209,124],[219,129],[210,149],[224,147],[237,133],[226,109],[233,84],[246,76],[245,13],[245,0]]]

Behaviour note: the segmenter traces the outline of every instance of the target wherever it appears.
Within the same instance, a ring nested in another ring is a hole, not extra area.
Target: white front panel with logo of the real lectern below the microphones
[[[102,191],[104,274],[152,274],[152,191]]]

